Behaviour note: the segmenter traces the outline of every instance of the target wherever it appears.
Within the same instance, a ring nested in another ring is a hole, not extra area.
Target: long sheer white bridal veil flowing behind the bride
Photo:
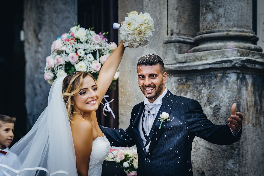
[[[77,176],[72,132],[61,96],[64,78],[53,82],[48,106],[0,162],[0,175]]]

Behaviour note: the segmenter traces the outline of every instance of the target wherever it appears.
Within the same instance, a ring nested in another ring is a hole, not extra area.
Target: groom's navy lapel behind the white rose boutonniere
[[[163,131],[163,128],[164,128],[164,122],[161,126],[161,128],[159,129],[159,126],[160,126],[160,122],[159,120],[157,120],[158,118],[160,118],[160,114],[163,113],[163,112],[167,112],[168,114],[170,114],[170,111],[171,111],[171,107],[172,107],[172,102],[171,99],[170,99],[170,95],[172,95],[170,93],[170,91],[168,90],[167,93],[165,94],[165,96],[162,98],[162,105],[160,107],[160,110],[155,118],[155,129],[154,129],[154,134],[152,136],[152,139],[151,139],[151,142],[150,142],[150,146],[149,146],[149,149],[148,149],[148,152],[151,153],[153,148],[155,147],[155,145],[157,144],[159,138],[161,137],[161,134],[162,134],[162,131]]]

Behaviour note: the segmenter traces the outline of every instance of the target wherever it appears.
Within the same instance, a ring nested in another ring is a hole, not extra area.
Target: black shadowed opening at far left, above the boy
[[[3,1],[1,6],[0,114],[16,117],[13,145],[26,134],[25,55],[20,35],[23,1],[17,1],[15,6],[13,1]]]

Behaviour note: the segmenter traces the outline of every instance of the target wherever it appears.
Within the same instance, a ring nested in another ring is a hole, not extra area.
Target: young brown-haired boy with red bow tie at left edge
[[[8,152],[8,146],[14,138],[15,117],[0,114],[0,161]]]

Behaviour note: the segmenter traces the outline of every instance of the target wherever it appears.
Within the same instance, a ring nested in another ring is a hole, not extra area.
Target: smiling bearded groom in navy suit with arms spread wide
[[[137,65],[138,85],[145,101],[133,107],[130,125],[123,129],[103,128],[110,144],[138,150],[138,175],[193,175],[191,151],[195,136],[218,145],[237,142],[242,133],[243,114],[231,108],[230,123],[215,125],[198,101],[173,95],[166,87],[167,73],[158,55],[145,55]],[[161,128],[160,114],[166,112]]]

